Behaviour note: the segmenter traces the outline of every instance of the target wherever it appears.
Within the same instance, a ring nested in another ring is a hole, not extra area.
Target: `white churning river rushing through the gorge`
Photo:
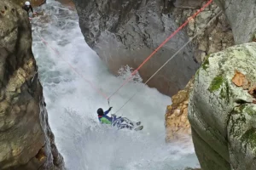
[[[143,123],[143,131],[115,130],[100,125],[96,110],[108,110],[108,102],[86,81],[112,94],[131,72],[120,77],[108,72],[86,42],[75,11],[48,3],[36,10],[44,16],[32,20],[32,50],[55,142],[69,170],[179,170],[197,167],[189,142],[165,143],[164,113],[171,99],[140,82],[130,82],[110,100],[117,113]],[[47,42],[47,44],[44,43]],[[79,73],[79,74],[78,74]],[[138,81],[140,79],[138,78]]]

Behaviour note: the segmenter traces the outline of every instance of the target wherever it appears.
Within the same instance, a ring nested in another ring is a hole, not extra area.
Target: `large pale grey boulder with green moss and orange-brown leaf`
[[[211,54],[197,71],[189,122],[202,169],[256,169],[255,63],[250,42]]]

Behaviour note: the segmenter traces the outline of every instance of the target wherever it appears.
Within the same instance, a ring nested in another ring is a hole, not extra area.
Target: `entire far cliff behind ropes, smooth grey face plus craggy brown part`
[[[79,24],[85,41],[93,48],[110,71],[117,73],[122,65],[137,68],[148,54],[201,8],[204,0],[149,1],[82,1],[73,0],[79,13]],[[159,53],[139,71],[145,82],[189,37],[206,26],[220,9],[216,4],[206,8],[183,31],[172,38]],[[173,95],[185,87],[195,74],[198,63],[207,54],[230,47],[233,37],[224,15],[214,20],[201,35],[178,54],[150,82],[149,87]]]

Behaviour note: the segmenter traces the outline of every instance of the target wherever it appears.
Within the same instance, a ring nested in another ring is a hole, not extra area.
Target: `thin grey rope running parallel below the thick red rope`
[[[173,54],[172,57],[171,57],[170,59],[168,59],[164,65],[160,66],[160,68],[159,68],[157,71],[155,71],[154,74],[153,74],[151,77],[149,77],[146,82],[144,82],[144,84],[147,84],[164,66],[167,65],[167,63],[168,63],[169,61],[171,61],[175,56],[177,56],[177,54],[178,54],[183,48],[185,48],[185,47],[189,44],[189,42],[192,42],[192,40],[194,40],[195,37],[197,37],[199,34],[201,34],[201,32],[202,32],[203,30],[205,30],[205,29],[207,28],[207,26],[209,26],[209,25],[211,24],[211,22],[212,22],[213,20],[215,20],[215,19],[218,17],[218,15],[221,14],[221,13],[222,13],[222,11],[220,11],[218,14],[216,14],[216,15],[212,18],[212,20],[210,20],[210,21],[207,23],[207,25],[204,26],[204,27],[201,29],[201,31],[198,31],[198,32],[195,34],[194,37],[192,37],[188,42],[186,42],[186,43],[183,45],[182,48],[179,48],[179,49],[177,50],[177,52],[176,52],[175,54]],[[139,92],[139,90],[137,90],[137,92]],[[125,104],[122,105],[122,106],[119,108],[119,110],[116,111],[114,114],[116,114],[116,113],[118,113],[120,110],[122,110],[122,109],[125,107],[125,105],[137,94],[137,92],[134,93],[134,94],[131,96],[131,98],[128,99],[128,100],[125,102]]]

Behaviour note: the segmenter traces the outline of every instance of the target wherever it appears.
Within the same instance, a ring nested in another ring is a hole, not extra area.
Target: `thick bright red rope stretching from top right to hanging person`
[[[150,55],[148,56],[148,58],[145,59],[145,60],[143,61],[143,63],[142,63],[141,65],[139,65],[139,66],[137,67],[137,69],[131,73],[131,76],[128,77],[128,78],[125,80],[125,82],[123,82],[123,83],[121,84],[121,86],[120,86],[116,91],[113,92],[113,94],[116,94],[116,93],[119,91],[120,88],[122,88],[123,86],[125,86],[125,84],[131,80],[131,78],[137,73],[138,70],[140,70],[140,69],[142,68],[142,66],[148,61],[148,59],[150,59],[160,48],[162,48],[162,47],[166,44],[166,42],[168,42],[172,37],[174,37],[174,36],[177,34],[178,31],[181,31],[184,26],[187,26],[187,25],[189,24],[189,21],[190,21],[190,20],[195,19],[195,17],[196,17],[198,14],[200,14],[201,11],[203,11],[205,8],[207,8],[207,6],[209,6],[211,3],[212,3],[212,0],[209,0],[209,2],[206,3],[201,9],[199,9],[195,14],[193,14],[191,17],[189,17],[189,19],[186,20],[186,21],[183,23],[182,26],[178,27],[177,30],[174,31],[170,37],[167,37],[166,40],[165,40],[164,42],[162,42],[162,43],[160,44],[160,46],[159,46],[158,48],[156,48],[156,49],[154,50],[154,52],[153,52],[152,54],[150,54]],[[108,97],[108,99],[110,99],[110,98],[113,96],[113,94],[111,94],[111,95]]]

